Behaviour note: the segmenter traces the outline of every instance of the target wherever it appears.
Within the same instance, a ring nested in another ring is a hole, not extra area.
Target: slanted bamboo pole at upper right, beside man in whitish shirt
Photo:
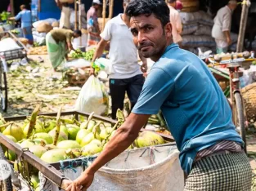
[[[242,7],[242,13],[241,13],[241,19],[240,19],[240,29],[239,29],[238,39],[237,39],[236,52],[243,51],[249,5],[250,5],[249,0],[244,0],[242,3],[243,7]]]

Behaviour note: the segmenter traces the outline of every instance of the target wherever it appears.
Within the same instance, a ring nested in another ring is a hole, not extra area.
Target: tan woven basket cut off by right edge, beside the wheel
[[[245,111],[248,121],[256,121],[256,82],[242,88],[241,90]]]

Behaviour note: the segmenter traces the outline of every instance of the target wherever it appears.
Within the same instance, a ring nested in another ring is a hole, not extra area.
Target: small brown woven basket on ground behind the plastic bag
[[[77,72],[66,73],[68,82],[71,87],[83,87],[83,84],[88,81],[90,77],[90,69],[83,69],[84,74]]]

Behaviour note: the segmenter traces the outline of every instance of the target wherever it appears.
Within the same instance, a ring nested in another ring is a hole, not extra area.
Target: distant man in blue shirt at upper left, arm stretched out
[[[20,12],[16,17],[11,17],[9,20],[21,20],[21,29],[23,31],[24,38],[29,40],[29,44],[33,44],[32,34],[32,15],[31,11],[26,9],[25,5],[20,6]]]

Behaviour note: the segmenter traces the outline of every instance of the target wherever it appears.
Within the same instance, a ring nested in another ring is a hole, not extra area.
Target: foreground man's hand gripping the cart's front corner
[[[87,171],[84,171],[82,175],[79,176],[73,182],[70,182],[69,186],[65,191],[86,191],[89,186],[92,184],[94,179],[94,174],[89,174]]]

